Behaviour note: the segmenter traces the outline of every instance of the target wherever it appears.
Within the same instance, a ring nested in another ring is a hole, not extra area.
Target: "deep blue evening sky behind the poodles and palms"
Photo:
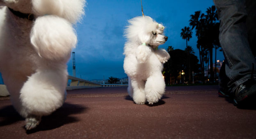
[[[86,16],[75,26],[78,44],[75,52],[76,77],[85,80],[126,77],[123,71],[123,30],[127,21],[142,16],[140,0],[87,0]],[[142,0],[144,14],[151,16],[165,26],[168,41],[159,46],[167,49],[185,49],[186,41],[181,39],[181,29],[189,25],[190,15],[195,11],[206,12],[214,5],[212,0]],[[188,41],[195,55],[197,37]],[[218,51],[217,59],[224,57]],[[72,75],[72,59],[68,62],[69,75]]]

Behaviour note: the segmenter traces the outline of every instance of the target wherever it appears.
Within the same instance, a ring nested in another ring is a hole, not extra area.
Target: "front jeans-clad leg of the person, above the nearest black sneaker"
[[[220,20],[219,41],[225,55],[227,87],[231,92],[251,77],[256,60],[247,39],[244,0],[214,0]],[[254,68],[256,69],[256,68]],[[255,74],[255,73],[254,73]]]

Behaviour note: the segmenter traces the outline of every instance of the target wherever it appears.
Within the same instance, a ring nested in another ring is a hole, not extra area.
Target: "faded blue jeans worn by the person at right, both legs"
[[[256,0],[213,1],[220,20],[219,42],[225,57],[219,85],[233,92],[251,74],[256,77]]]

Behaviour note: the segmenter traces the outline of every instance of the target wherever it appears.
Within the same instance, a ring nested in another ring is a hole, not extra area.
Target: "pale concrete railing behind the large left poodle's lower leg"
[[[69,80],[71,80],[71,83],[66,87],[66,90],[102,87],[101,84],[96,84],[73,76],[69,76]]]

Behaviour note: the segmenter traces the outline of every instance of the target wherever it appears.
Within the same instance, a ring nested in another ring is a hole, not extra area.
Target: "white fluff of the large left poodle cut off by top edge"
[[[32,5],[37,16],[57,15],[76,23],[85,14],[86,0],[32,0]]]

